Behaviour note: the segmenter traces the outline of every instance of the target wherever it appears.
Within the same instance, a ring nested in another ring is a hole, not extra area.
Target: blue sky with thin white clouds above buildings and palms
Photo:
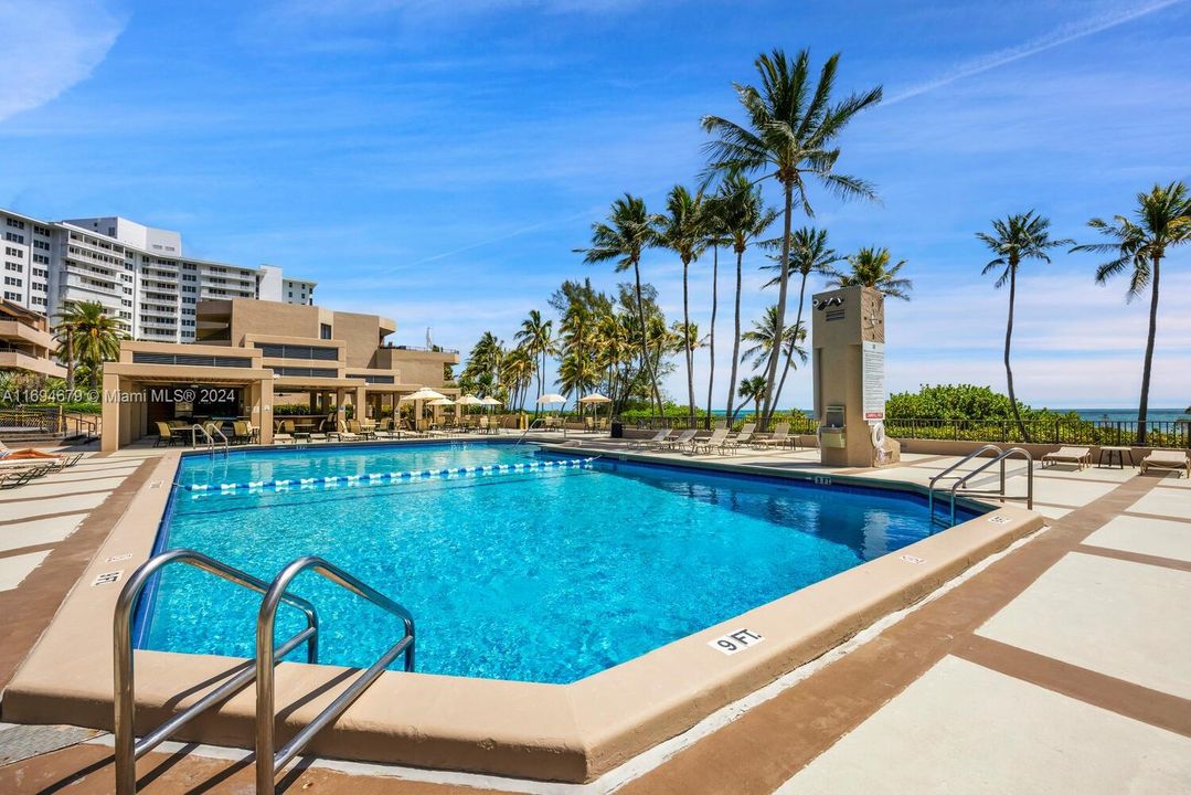
[[[1004,389],[1008,296],[974,234],[1034,209],[1058,237],[1191,179],[1191,0],[0,0],[0,206],[120,215],[195,256],[281,265],[318,303],[393,317],[397,342],[511,341],[565,279],[613,290],[573,249],[625,191],[663,209],[704,166],[706,113],[773,48],[842,52],[842,92],[885,101],[837,168],[879,201],[812,188],[842,254],[887,247],[912,300],[887,305],[887,380]],[[777,195],[768,197],[777,201]],[[1059,250],[1019,281],[1014,371],[1034,406],[1137,400],[1146,300]],[[746,259],[746,324],[775,300]],[[671,318],[681,268],[643,260]],[[1191,403],[1191,246],[1162,272],[1152,406]],[[715,403],[730,367],[721,261]],[[692,266],[705,333],[711,259]],[[822,287],[812,281],[809,292]],[[685,402],[679,368],[667,392]],[[706,396],[706,352],[697,395]],[[553,373],[551,373],[553,379]],[[553,384],[551,384],[553,387]],[[784,404],[811,403],[811,374]]]

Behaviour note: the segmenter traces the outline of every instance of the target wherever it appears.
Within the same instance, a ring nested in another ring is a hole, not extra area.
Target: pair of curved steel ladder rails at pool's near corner
[[[223,684],[208,691],[186,709],[172,715],[139,740],[136,739],[136,697],[132,667],[132,613],[137,600],[149,579],[164,566],[180,563],[200,569],[227,582],[262,595],[256,617],[256,654],[254,660],[232,667],[225,673]],[[274,667],[286,654],[306,645],[306,662],[318,663],[318,613],[306,600],[288,594],[294,577],[304,571],[313,571],[345,588],[356,596],[368,600],[387,613],[399,617],[404,626],[401,638],[380,659],[348,685],[323,712],[294,734],[280,751],[275,749],[275,687]],[[306,628],[294,634],[280,646],[274,646],[273,635],[278,608],[287,604],[306,617]],[[116,602],[113,626],[114,657],[114,707],[116,707],[116,794],[135,795],[137,791],[136,762],[150,750],[176,733],[194,718],[211,707],[223,703],[232,694],[251,682],[256,682],[256,793],[272,795],[278,770],[292,762],[314,735],[333,723],[344,710],[372,685],[380,675],[400,656],[405,656],[405,670],[413,671],[413,616],[397,602],[356,579],[338,566],[317,555],[298,558],[274,578],[272,583],[254,577],[225,563],[193,549],[170,549],[155,555],[133,572],[124,584]]]

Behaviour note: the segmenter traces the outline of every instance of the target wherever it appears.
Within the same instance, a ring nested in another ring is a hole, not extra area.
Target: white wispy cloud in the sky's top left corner
[[[100,0],[0,2],[0,122],[89,77],[125,24]]]

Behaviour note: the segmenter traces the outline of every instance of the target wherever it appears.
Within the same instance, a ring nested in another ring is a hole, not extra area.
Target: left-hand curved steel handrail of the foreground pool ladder
[[[257,666],[252,660],[231,670],[231,678],[214,688],[199,701],[191,704],[182,712],[161,723],[138,743],[136,739],[136,698],[133,689],[133,665],[132,665],[132,608],[137,603],[137,597],[160,569],[172,563],[185,563],[201,569],[227,582],[236,583],[257,594],[269,590],[269,584],[263,579],[254,577],[245,571],[241,571],[225,563],[210,558],[201,552],[193,549],[170,549],[142,564],[132,577],[120,589],[120,596],[116,601],[116,615],[113,619],[113,684],[114,684],[114,734],[116,734],[116,791],[117,795],[135,795],[137,791],[136,760],[148,751],[157,746],[170,734],[175,733],[192,719],[205,712],[208,707],[219,703],[226,696],[236,692],[245,684],[257,677]],[[318,614],[306,600],[298,596],[283,596],[286,604],[289,604],[306,615],[306,628],[278,647],[272,654],[278,659],[283,658],[294,648],[306,642],[306,659],[310,663],[318,662]],[[272,638],[270,638],[270,652]]]

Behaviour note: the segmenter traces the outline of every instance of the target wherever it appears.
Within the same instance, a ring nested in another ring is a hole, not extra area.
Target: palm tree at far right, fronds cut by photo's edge
[[[1127,300],[1133,300],[1149,286],[1149,333],[1146,337],[1146,362],[1141,371],[1141,404],[1137,408],[1137,443],[1146,443],[1146,418],[1149,412],[1149,375],[1154,362],[1154,339],[1158,334],[1158,282],[1161,275],[1166,249],[1191,241],[1191,195],[1183,182],[1171,182],[1166,187],[1154,185],[1149,193],[1137,194],[1134,211],[1136,222],[1124,216],[1115,216],[1114,223],[1092,218],[1087,225],[1106,237],[1111,243],[1087,243],[1073,251],[1097,251],[1112,254],[1096,268],[1096,281],[1105,284],[1110,278],[1129,274]]]

